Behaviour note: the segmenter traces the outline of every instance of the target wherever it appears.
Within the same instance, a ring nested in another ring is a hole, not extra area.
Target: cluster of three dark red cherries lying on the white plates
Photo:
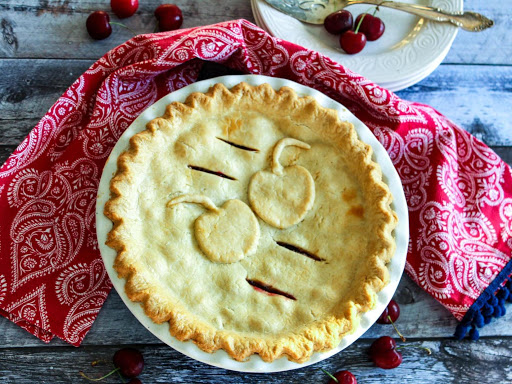
[[[352,30],[354,26],[355,30]],[[385,30],[384,22],[379,17],[362,13],[354,23],[354,17],[347,10],[331,13],[325,18],[324,27],[333,35],[341,35],[340,46],[349,54],[361,52],[366,41],[379,39]]]

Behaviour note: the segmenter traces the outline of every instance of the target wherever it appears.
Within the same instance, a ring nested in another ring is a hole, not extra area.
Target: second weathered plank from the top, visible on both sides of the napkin
[[[0,60],[0,144],[18,144],[90,60]],[[512,67],[442,65],[398,92],[429,104],[488,145],[512,146]]]

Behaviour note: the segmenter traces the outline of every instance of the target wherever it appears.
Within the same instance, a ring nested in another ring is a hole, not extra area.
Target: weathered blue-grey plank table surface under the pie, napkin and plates
[[[125,23],[138,33],[152,32],[153,11],[160,2],[140,0],[137,14]],[[465,1],[496,25],[485,32],[458,33],[442,63],[420,83],[398,92],[404,99],[427,103],[482,139],[512,163],[512,2]],[[178,0],[183,27],[245,18],[254,22],[249,0]],[[106,40],[92,41],[87,15],[109,10],[109,2],[78,0],[0,1],[0,160],[16,148],[63,91],[109,49],[131,37],[114,27]],[[114,18],[115,20],[115,18]],[[357,68],[352,68],[357,71]],[[142,327],[112,291],[79,348],[55,339],[44,344],[0,318],[1,383],[84,383],[97,359],[110,360],[123,346],[139,348],[146,361],[144,383],[327,383],[320,368],[351,370],[368,383],[510,383],[512,382],[512,311],[481,331],[478,342],[455,341],[451,314],[404,276],[395,299],[398,321],[410,341],[429,347],[404,352],[397,369],[385,371],[368,360],[366,350],[390,326],[374,325],[343,352],[309,367],[273,374],[245,374],[194,361],[162,344]],[[106,368],[104,368],[106,370]],[[111,376],[105,383],[119,383]]]

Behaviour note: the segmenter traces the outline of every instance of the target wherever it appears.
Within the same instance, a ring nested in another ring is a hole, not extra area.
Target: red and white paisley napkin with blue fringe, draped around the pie
[[[111,288],[95,236],[103,165],[130,123],[196,81],[207,61],[296,81],[350,109],[402,179],[408,274],[463,320],[462,333],[501,311],[512,272],[510,167],[431,107],[236,20],[140,35],[114,48],[9,157],[0,169],[0,314],[46,342],[57,336],[80,345]]]

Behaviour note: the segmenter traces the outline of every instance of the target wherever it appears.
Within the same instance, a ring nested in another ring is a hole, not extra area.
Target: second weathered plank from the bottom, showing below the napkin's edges
[[[408,338],[451,338],[457,321],[438,302],[421,290],[408,277],[402,278],[395,294],[400,304],[401,314],[397,326]],[[512,308],[503,318],[481,329],[485,336],[512,336]],[[47,345],[30,336],[26,331],[10,321],[0,318],[0,348],[2,347],[46,347]],[[363,339],[372,339],[381,335],[394,335],[391,325],[375,324],[363,335]],[[160,344],[160,341],[146,330],[129,312],[119,295],[114,291],[108,297],[91,331],[83,345],[112,344]],[[54,339],[49,347],[67,346],[64,342]]]

